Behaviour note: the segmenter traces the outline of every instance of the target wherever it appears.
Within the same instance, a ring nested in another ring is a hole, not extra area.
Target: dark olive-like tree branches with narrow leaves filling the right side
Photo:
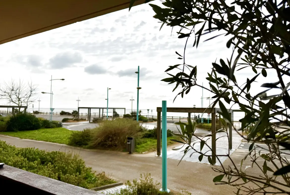
[[[191,44],[198,48],[204,36],[213,34],[205,41],[226,36],[228,41],[225,47],[232,49],[232,54],[227,59],[212,62],[212,69],[206,78],[210,87],[203,88],[214,94],[211,107],[219,105],[228,125],[233,125],[233,121],[224,103],[229,104],[227,107],[230,108],[240,107],[245,112],[245,116],[240,120],[241,127],[234,130],[248,142],[252,142],[244,159],[251,158],[252,167],[257,166],[262,173],[259,176],[247,173],[246,169],[249,167],[242,168],[242,159],[240,168],[234,163],[228,168],[213,167],[214,171],[220,173],[213,181],[237,187],[237,194],[290,194],[290,163],[283,156],[290,150],[290,134],[288,130],[276,130],[276,126],[270,122],[283,122],[283,117],[286,119],[285,125],[289,126],[290,1],[164,0],[162,4],[162,7],[150,4],[156,13],[154,18],[162,23],[161,28],[164,25],[171,26],[172,29],[177,27],[178,38],[182,42],[185,41],[186,45]],[[169,77],[162,80],[168,84],[175,84],[173,91],[180,88],[177,96],[182,97],[188,94],[192,87],[202,87],[201,82],[197,80],[198,65],[190,65],[186,60],[187,48],[189,47],[185,46],[183,51],[175,52],[181,63],[170,65],[166,69]],[[237,80],[236,74],[242,69],[253,71],[255,76],[240,82],[241,79]],[[177,74],[171,74],[176,70]],[[253,83],[258,82],[260,77],[267,77],[269,72],[276,75],[275,80],[261,83],[262,92],[251,90]],[[180,128],[183,126],[183,129],[184,126],[189,126],[179,125]],[[194,136],[194,130],[190,127],[188,129],[191,130],[185,130],[180,135],[182,142],[189,145],[184,153],[193,150],[200,153],[200,160],[208,157],[212,163],[212,155],[192,146],[191,137]],[[243,133],[246,130],[248,134],[245,136]],[[229,137],[226,128],[217,132]],[[207,145],[207,138],[210,137],[200,139],[200,144]],[[265,147],[259,147],[267,149],[268,153],[261,153],[260,149],[254,146],[255,142],[264,143]],[[207,146],[211,150],[211,147]],[[229,153],[226,156],[232,160]],[[216,157],[219,160],[221,156]],[[263,164],[258,159],[263,159]],[[250,188],[249,184],[255,187]]]

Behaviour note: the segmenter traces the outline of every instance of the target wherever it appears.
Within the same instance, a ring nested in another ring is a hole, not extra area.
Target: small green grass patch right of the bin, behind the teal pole
[[[167,137],[167,146],[175,144],[177,142],[173,142],[170,139],[178,139],[178,137]],[[142,138],[137,141],[137,145],[135,147],[135,152],[143,153],[143,152],[151,152],[157,149],[157,139],[154,138]]]

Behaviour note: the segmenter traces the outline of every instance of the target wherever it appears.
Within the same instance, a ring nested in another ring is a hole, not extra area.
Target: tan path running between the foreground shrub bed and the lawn
[[[151,173],[153,179],[162,181],[162,158],[142,154],[132,154],[106,151],[88,150],[62,144],[41,142],[28,139],[18,139],[0,135],[0,139],[17,147],[36,147],[48,151],[65,151],[79,154],[97,173],[105,171],[116,180],[126,182],[139,178],[140,173]],[[169,152],[169,151],[168,151]],[[239,163],[242,155],[247,151],[240,150],[237,159]],[[187,189],[195,195],[224,195],[233,194],[235,190],[228,185],[214,185],[212,179],[218,175],[213,172],[211,166],[203,163],[182,161],[168,158],[168,188],[171,190]]]

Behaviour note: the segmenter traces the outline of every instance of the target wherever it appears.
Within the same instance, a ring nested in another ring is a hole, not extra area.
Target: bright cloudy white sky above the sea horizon
[[[154,2],[160,4],[160,2]],[[107,15],[77,22],[51,31],[32,35],[0,45],[0,83],[11,79],[32,81],[37,85],[37,99],[41,108],[49,108],[50,77],[54,80],[52,91],[54,108],[75,108],[79,106],[106,107],[107,87],[109,107],[131,108],[137,105],[137,71],[140,67],[139,109],[156,109],[162,100],[168,107],[201,107],[202,90],[193,87],[189,94],[173,103],[180,90],[172,92],[175,84],[160,81],[168,77],[164,72],[169,65],[182,63],[175,51],[183,53],[185,39],[178,39],[176,31],[153,18],[154,12],[148,4],[135,6]],[[211,35],[210,35],[211,36]],[[226,42],[231,37],[220,36],[192,47],[194,38],[186,49],[186,62],[197,65],[198,83],[208,86],[207,72],[211,72],[216,59],[231,56]],[[4,74],[3,74],[4,73]],[[7,74],[8,73],[8,74]],[[250,69],[237,74],[242,83],[254,76]],[[259,77],[259,82],[276,81],[275,74]],[[251,90],[261,91],[261,83]],[[204,97],[212,94],[204,91]],[[5,104],[1,102],[0,104]],[[35,103],[38,107],[38,102]],[[204,100],[204,106],[208,102]]]

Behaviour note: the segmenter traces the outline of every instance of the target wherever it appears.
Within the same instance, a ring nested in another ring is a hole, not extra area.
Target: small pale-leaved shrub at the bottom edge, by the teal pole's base
[[[137,179],[133,183],[129,181],[126,183],[127,188],[121,189],[119,193],[114,195],[191,195],[190,192],[182,190],[182,193],[160,192],[160,183],[151,178],[150,173],[140,174],[139,182]]]

